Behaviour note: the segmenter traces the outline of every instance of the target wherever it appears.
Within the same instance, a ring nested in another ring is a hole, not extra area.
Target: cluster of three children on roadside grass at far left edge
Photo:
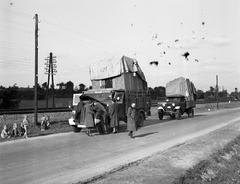
[[[28,136],[27,136],[28,125],[29,125],[29,121],[28,121],[27,115],[24,115],[23,121],[20,124],[20,128],[18,128],[17,123],[13,123],[11,130],[9,130],[7,125],[3,125],[3,130],[1,132],[1,138],[6,139],[6,138],[10,138],[10,137],[20,137],[20,136],[22,136],[24,138],[28,138]]]

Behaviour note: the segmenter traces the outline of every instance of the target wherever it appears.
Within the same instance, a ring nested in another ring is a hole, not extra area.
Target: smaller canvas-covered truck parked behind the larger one
[[[158,106],[158,117],[168,115],[171,118],[181,118],[184,113],[188,117],[194,116],[196,107],[196,88],[194,84],[186,78],[179,77],[166,84],[166,102]]]

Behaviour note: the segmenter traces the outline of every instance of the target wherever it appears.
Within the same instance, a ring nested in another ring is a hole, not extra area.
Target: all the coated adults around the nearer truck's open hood
[[[134,138],[133,131],[137,130],[137,113],[135,107],[136,104],[132,103],[127,111],[127,130],[129,131],[128,135],[131,138]],[[119,106],[117,100],[113,98],[112,103],[108,105],[107,110],[99,102],[90,100],[86,104],[83,104],[80,100],[76,108],[75,119],[80,123],[81,118],[84,118],[85,120],[84,122],[87,128],[86,134],[88,136],[93,136],[91,129],[96,125],[98,125],[98,128],[102,129],[101,132],[104,134],[108,133],[109,127],[112,129],[112,133],[115,134],[118,132],[119,126]]]

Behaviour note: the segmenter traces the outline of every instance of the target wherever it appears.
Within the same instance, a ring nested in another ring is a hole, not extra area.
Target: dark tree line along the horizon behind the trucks
[[[91,86],[87,88],[83,83],[74,87],[74,83],[71,81],[66,83],[61,82],[56,86],[56,89],[54,89],[53,86],[50,86],[48,89],[46,82],[42,85],[38,84],[38,100],[46,99],[47,91],[49,97],[51,97],[53,92],[54,98],[72,98],[74,93],[81,93],[92,88]],[[17,109],[21,100],[34,100],[34,88],[35,86],[33,86],[33,88],[20,88],[17,84],[9,86],[8,88],[0,86],[0,109]],[[163,86],[149,87],[148,89],[151,94],[151,99],[153,100],[158,99],[158,97],[165,97],[166,90]],[[223,89],[220,91],[212,86],[208,91],[203,92],[198,89],[196,92],[196,99],[198,101],[216,101],[217,98],[219,101],[240,100],[240,92],[235,88],[234,92],[228,93],[227,90]]]

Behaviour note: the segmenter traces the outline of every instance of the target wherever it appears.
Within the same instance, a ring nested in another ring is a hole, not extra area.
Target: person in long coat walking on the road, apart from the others
[[[127,111],[127,130],[129,131],[129,136],[133,139],[133,131],[137,131],[136,126],[136,104],[132,103]]]

